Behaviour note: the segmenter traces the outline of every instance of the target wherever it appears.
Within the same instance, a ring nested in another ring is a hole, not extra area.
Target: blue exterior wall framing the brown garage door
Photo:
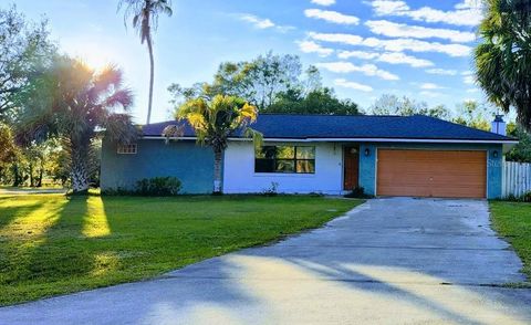
[[[487,198],[501,197],[502,145],[483,144],[407,144],[407,143],[365,143],[360,145],[360,186],[367,195],[376,195],[377,149],[431,149],[431,150],[487,150]],[[369,155],[365,156],[365,149]],[[498,157],[494,157],[498,151]]]

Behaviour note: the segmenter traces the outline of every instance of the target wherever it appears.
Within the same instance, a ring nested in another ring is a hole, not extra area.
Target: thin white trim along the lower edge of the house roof
[[[145,136],[144,139],[166,139],[163,136]],[[196,137],[169,137],[170,140],[195,140]],[[231,141],[251,141],[251,138],[229,138]],[[433,143],[433,144],[518,144],[518,140],[467,140],[467,139],[408,139],[408,138],[263,138],[280,143]]]

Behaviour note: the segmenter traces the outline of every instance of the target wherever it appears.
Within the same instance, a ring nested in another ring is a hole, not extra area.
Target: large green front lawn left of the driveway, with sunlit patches
[[[323,197],[0,197],[0,305],[149,279],[316,228]]]

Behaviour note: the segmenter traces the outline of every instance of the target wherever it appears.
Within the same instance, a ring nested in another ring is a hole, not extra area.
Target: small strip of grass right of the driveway
[[[492,226],[504,237],[523,262],[523,273],[531,279],[531,203],[491,201]],[[523,285],[523,284],[522,284]],[[524,284],[529,286],[529,282]]]

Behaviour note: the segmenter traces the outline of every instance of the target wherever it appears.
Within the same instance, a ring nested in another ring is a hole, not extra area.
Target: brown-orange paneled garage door
[[[378,150],[378,196],[485,198],[486,181],[486,151]]]

